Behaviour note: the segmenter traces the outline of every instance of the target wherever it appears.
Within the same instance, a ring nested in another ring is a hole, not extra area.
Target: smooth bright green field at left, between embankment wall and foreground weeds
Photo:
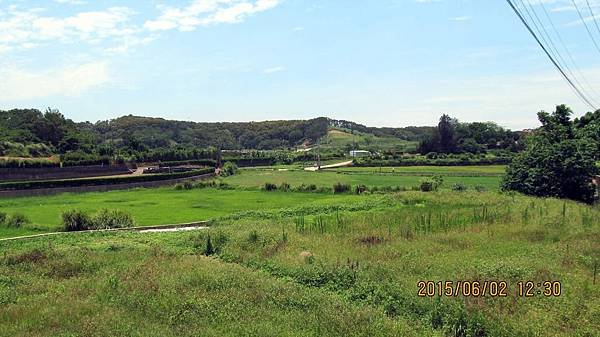
[[[309,193],[196,189],[173,187],[127,191],[66,193],[54,196],[0,199],[0,212],[25,214],[32,224],[20,229],[0,227],[0,238],[59,230],[63,211],[95,212],[102,208],[130,213],[142,226],[208,220],[247,210],[292,207],[304,204],[344,203],[359,196]]]

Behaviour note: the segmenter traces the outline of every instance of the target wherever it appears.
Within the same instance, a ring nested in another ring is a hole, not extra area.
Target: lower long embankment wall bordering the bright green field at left
[[[59,193],[81,193],[81,192],[104,192],[113,190],[128,190],[137,187],[159,187],[173,185],[186,180],[204,180],[214,177],[214,173],[203,174],[199,176],[170,179],[170,180],[159,180],[159,181],[147,181],[138,183],[125,183],[125,184],[113,184],[113,185],[97,185],[97,186],[80,186],[80,187],[57,187],[57,188],[40,188],[33,190],[14,190],[14,191],[0,191],[0,198],[14,198],[14,197],[30,197],[30,196],[41,196],[41,195],[52,195]]]

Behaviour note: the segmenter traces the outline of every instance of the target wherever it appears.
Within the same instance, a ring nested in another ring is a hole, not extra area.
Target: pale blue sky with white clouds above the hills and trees
[[[524,1],[545,4],[600,101],[571,0]],[[504,0],[0,0],[0,109],[517,129],[560,103],[589,110]]]

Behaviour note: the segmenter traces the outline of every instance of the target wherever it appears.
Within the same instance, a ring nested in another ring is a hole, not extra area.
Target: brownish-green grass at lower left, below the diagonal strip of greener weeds
[[[87,235],[41,253],[12,246],[20,253],[0,263],[0,336],[411,335],[373,308],[164,243]]]

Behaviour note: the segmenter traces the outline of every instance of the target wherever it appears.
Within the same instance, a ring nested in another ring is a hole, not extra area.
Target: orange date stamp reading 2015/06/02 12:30
[[[419,281],[417,283],[419,297],[558,297],[562,294],[560,281],[519,281],[516,288],[510,291],[507,281]]]

